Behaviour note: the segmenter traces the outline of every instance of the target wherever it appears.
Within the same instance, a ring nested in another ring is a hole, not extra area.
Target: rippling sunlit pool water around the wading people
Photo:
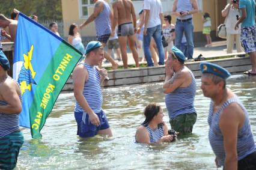
[[[73,115],[75,98],[72,93],[61,94],[41,130],[43,139],[31,139],[29,129],[23,130],[25,142],[16,169],[216,169],[207,138],[210,100],[203,97],[200,81],[193,134],[158,146],[135,144],[134,136],[136,127],[144,121],[142,111],[150,102],[163,106],[164,121],[169,126],[162,83],[103,90],[103,109],[114,133],[112,138],[78,138]],[[232,76],[228,87],[248,109],[255,139],[256,76]]]

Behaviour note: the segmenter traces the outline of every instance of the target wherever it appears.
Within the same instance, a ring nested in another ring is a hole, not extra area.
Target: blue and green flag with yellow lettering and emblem
[[[20,126],[31,128],[32,138],[52,111],[82,53],[49,29],[19,13],[13,59],[13,77],[20,85]]]

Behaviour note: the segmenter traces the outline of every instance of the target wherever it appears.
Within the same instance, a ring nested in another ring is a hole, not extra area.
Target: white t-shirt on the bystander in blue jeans
[[[160,0],[144,0],[144,10],[150,10],[147,28],[152,28],[161,24],[159,14],[163,13],[163,10]]]

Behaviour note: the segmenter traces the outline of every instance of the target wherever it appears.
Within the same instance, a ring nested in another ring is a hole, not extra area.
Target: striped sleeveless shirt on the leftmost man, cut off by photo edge
[[[11,77],[7,77],[7,78],[12,79]],[[16,82],[16,80],[14,81]],[[21,102],[22,101],[21,94],[19,95],[19,98]],[[7,104],[8,104],[7,102],[0,100],[0,106],[5,106]],[[5,114],[3,112],[0,112],[0,138],[3,138],[4,136],[19,130],[19,114],[20,113]]]

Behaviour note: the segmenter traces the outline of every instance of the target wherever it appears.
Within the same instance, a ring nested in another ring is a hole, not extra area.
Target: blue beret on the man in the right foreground
[[[231,75],[225,68],[210,62],[201,62],[200,69],[202,73],[215,74],[216,76],[222,77],[222,79],[227,79]]]

